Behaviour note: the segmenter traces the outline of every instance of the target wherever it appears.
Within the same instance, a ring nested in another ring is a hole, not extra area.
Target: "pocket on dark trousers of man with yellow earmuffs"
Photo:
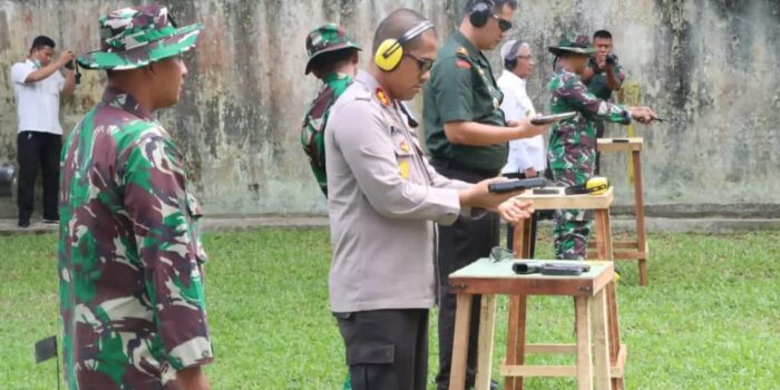
[[[360,344],[347,349],[347,364],[355,389],[369,389],[370,384],[382,383],[388,389],[398,389],[392,364],[396,348],[392,344]]]

